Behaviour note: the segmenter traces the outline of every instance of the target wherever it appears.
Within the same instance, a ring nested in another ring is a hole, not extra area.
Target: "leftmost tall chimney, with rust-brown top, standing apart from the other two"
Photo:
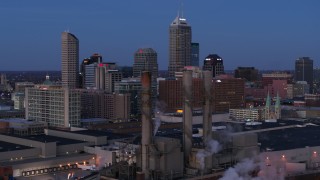
[[[151,73],[142,72],[141,75],[141,114],[142,114],[142,172],[145,179],[149,179],[149,145],[152,138],[152,122],[151,122]]]

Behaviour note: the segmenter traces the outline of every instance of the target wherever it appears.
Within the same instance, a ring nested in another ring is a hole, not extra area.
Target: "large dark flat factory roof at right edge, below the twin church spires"
[[[261,151],[281,151],[320,146],[320,126],[307,125],[258,133]]]

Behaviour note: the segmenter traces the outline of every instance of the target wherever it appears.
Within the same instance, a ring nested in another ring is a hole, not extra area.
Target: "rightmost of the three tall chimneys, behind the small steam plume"
[[[203,104],[203,142],[208,145],[212,138],[212,72],[203,71],[204,104]],[[205,159],[205,168],[212,169],[212,156]]]

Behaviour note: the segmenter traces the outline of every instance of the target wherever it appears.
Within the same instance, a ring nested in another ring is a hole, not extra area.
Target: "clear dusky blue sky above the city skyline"
[[[98,52],[104,61],[132,65],[140,47],[168,66],[168,28],[181,0],[1,0],[0,71],[60,70],[60,35],[80,40],[80,61]],[[320,60],[319,0],[185,0],[184,17],[200,43],[225,69],[294,69],[300,56]]]

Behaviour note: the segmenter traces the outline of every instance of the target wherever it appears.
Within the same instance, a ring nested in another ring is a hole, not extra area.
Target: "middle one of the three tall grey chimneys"
[[[182,86],[183,101],[183,148],[184,162],[189,165],[192,149],[192,71],[183,71]]]

